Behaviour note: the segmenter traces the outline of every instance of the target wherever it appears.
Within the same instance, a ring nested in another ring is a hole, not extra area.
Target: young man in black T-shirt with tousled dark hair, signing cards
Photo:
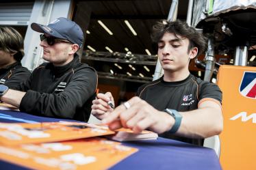
[[[98,94],[92,114],[111,129],[149,129],[161,137],[202,145],[204,138],[222,131],[222,92],[217,85],[190,74],[190,60],[205,51],[203,35],[179,20],[164,20],[153,27],[164,76],[138,89],[116,109],[107,102],[110,92]]]

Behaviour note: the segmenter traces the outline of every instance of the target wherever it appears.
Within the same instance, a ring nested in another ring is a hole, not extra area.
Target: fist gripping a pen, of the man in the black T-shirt
[[[92,100],[92,115],[98,119],[103,119],[109,115],[114,110],[107,104],[110,101],[114,104],[114,98],[110,92],[97,94],[97,98]]]

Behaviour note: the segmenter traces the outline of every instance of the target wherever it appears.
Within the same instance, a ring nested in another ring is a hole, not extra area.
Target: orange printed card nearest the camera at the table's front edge
[[[108,169],[137,152],[106,139],[0,146],[0,159],[31,169]]]

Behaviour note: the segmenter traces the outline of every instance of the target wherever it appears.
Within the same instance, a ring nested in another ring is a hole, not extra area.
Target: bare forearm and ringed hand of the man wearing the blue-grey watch
[[[158,111],[144,100],[134,97],[128,101],[131,107],[120,105],[103,119],[111,129],[131,128],[134,132],[149,129],[161,134],[172,128],[175,119],[164,111]],[[194,111],[180,112],[181,126],[175,133],[181,137],[207,138],[222,131],[222,111],[219,104],[205,100]]]

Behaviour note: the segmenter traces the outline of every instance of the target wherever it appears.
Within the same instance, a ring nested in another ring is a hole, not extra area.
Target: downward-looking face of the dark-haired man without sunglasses
[[[179,35],[177,37],[174,33],[166,32],[158,42],[157,55],[164,71],[177,72],[188,69],[190,59],[196,56],[193,50],[188,51],[188,38]]]

